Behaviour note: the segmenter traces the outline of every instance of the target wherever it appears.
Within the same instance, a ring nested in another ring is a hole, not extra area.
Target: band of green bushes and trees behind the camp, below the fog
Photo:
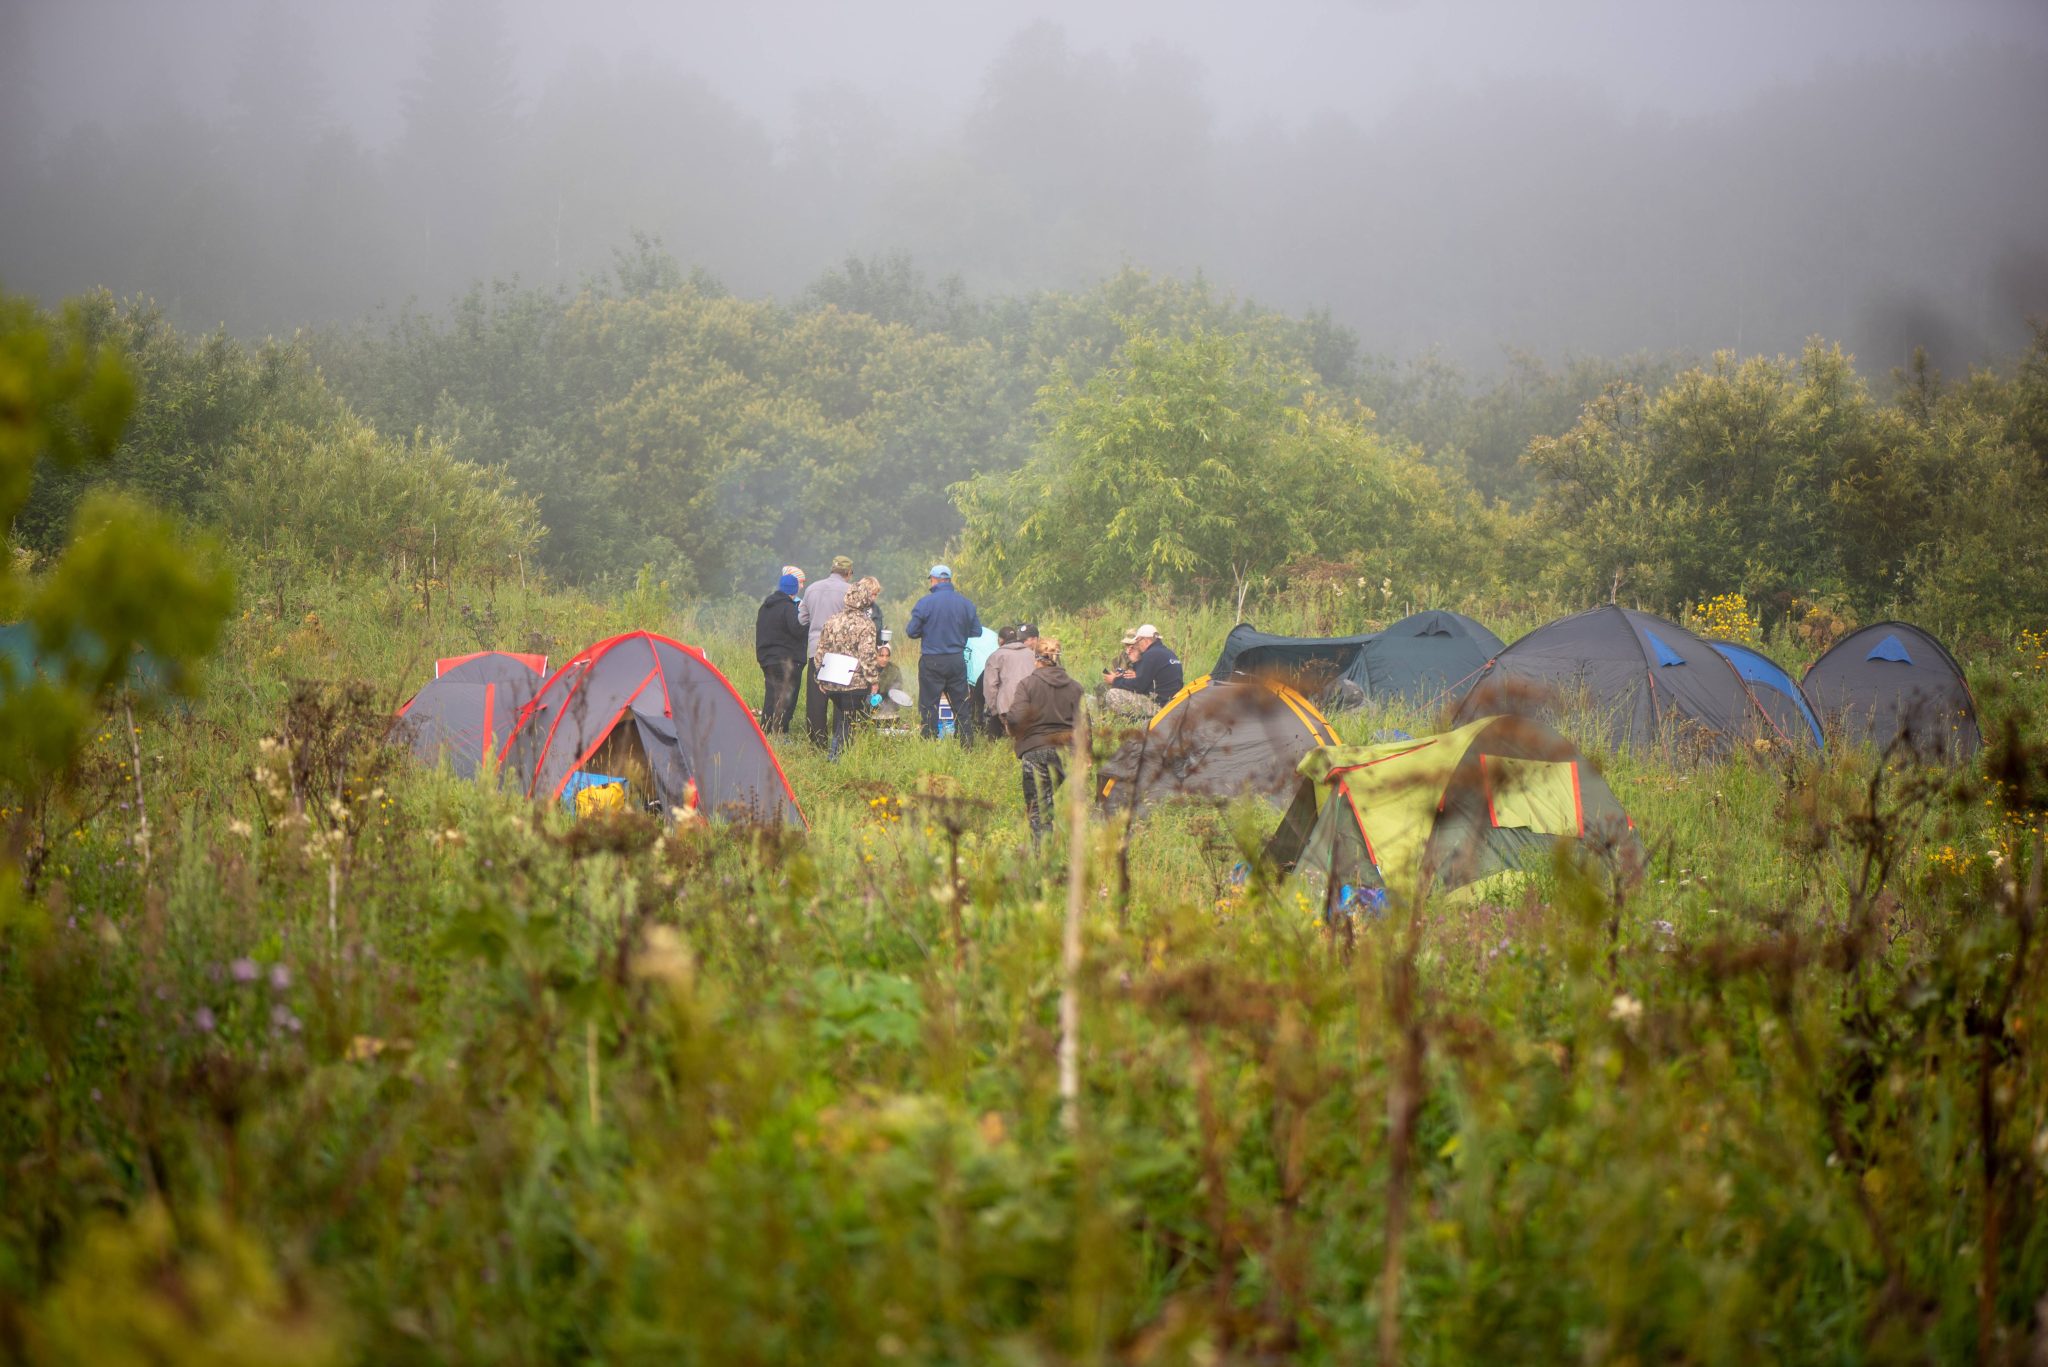
[[[848,260],[741,299],[651,242],[584,289],[242,344],[150,303],[72,307],[137,400],[100,465],[12,525],[55,551],[100,486],[285,570],[758,590],[840,551],[1077,607],[1366,580],[1415,603],[1720,592],[1767,621],[2048,611],[2048,332],[1946,377],[1796,357],[1518,359],[1475,381],[1366,355],[1200,277],[975,295]]]

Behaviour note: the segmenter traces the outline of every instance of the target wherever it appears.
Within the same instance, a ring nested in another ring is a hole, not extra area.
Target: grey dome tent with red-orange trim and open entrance
[[[502,773],[561,799],[578,773],[621,775],[641,801],[750,822],[803,822],[760,721],[705,652],[629,631],[555,670],[506,740]]]

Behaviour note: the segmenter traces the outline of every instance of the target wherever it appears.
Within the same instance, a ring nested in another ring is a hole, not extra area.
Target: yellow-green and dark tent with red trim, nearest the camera
[[[1577,840],[1622,877],[1642,867],[1634,824],[1579,750],[1530,717],[1378,746],[1323,746],[1268,857],[1309,879],[1325,914],[1354,892],[1430,896],[1530,867]]]

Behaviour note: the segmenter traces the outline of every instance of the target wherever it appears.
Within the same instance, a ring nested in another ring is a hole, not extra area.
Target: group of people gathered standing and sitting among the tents
[[[805,582],[801,568],[782,566],[754,621],[766,732],[788,734],[801,693],[805,734],[838,760],[856,715],[897,713],[903,670],[883,627],[881,592],[872,576],[854,578],[850,555],[836,555],[831,572],[815,584]],[[922,644],[918,734],[940,734],[944,699],[963,748],[973,748],[977,730],[1006,736],[1018,756],[1036,848],[1053,826],[1053,793],[1065,781],[1083,701],[1081,685],[1061,666],[1059,641],[1022,621],[999,627],[995,650],[979,654],[987,635],[981,613],[954,588],[944,564],[932,566],[928,592],[911,607],[903,633]],[[1112,717],[1145,719],[1180,689],[1180,656],[1159,639],[1159,627],[1145,623],[1124,635],[1120,660],[1102,670],[1100,699]]]

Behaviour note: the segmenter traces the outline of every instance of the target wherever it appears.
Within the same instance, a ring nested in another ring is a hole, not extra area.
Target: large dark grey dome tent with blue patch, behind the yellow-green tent
[[[1536,627],[1489,660],[1454,721],[1532,703],[1585,705],[1614,744],[1671,736],[1704,750],[1763,738],[1796,744],[1720,652],[1675,621],[1612,603]]]

